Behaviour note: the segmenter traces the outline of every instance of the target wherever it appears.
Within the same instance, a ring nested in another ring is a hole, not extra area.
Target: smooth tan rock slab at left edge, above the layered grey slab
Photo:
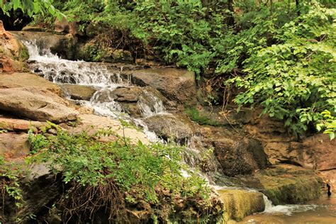
[[[12,73],[12,74],[1,74],[0,77],[0,89],[2,88],[18,88],[18,87],[28,87],[33,86],[38,89],[47,89],[54,94],[59,96],[62,95],[60,87],[52,82],[39,77],[37,74],[32,73]]]

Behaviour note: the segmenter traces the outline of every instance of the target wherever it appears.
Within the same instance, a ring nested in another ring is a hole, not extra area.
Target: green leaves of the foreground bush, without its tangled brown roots
[[[69,135],[60,129],[55,136],[30,133],[35,154],[29,160],[48,162],[53,172],[63,174],[65,183],[100,186],[113,181],[128,192],[128,201],[140,198],[158,203],[157,189],[185,197],[208,196],[206,182],[181,163],[181,148],[132,144],[124,137],[113,142],[99,141],[106,135],[111,135],[111,130],[101,130],[94,136]],[[189,177],[184,177],[182,170]]]

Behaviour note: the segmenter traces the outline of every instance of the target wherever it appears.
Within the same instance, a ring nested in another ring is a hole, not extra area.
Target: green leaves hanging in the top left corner
[[[62,19],[64,16],[60,11],[55,9],[52,6],[53,0],[9,0],[9,1],[0,1],[0,9],[9,16],[9,11],[12,9],[15,11],[21,9],[23,13],[26,13],[28,16],[33,16],[34,14],[42,13],[50,14],[52,16],[57,16]]]

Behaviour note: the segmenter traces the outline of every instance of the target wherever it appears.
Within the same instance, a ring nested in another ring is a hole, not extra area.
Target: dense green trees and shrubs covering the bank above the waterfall
[[[91,60],[123,48],[135,57],[187,67],[198,79],[211,74],[208,89],[241,88],[234,99],[239,107],[262,106],[293,135],[315,132],[317,124],[324,128],[323,111],[335,116],[334,1],[35,2],[52,3],[79,23],[91,37],[84,48]],[[35,21],[53,26],[50,12]],[[208,92],[207,101],[218,99]],[[329,128],[332,138],[335,125]]]

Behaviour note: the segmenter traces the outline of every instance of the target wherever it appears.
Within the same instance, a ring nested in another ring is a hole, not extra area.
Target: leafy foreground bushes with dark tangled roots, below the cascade
[[[48,135],[50,128],[57,135]],[[64,194],[54,205],[64,211],[65,220],[85,223],[94,220],[102,208],[108,220],[116,222],[125,221],[130,207],[148,213],[156,222],[158,218],[174,220],[174,213],[183,212],[177,217],[188,220],[221,212],[220,207],[213,211],[211,189],[181,161],[183,149],[176,145],[135,143],[111,130],[69,134],[52,123],[40,133],[30,130],[29,141],[32,149],[26,162],[46,164],[65,183]],[[17,208],[25,203],[21,194],[25,170],[13,169],[11,162],[0,157],[2,196],[9,196]]]

